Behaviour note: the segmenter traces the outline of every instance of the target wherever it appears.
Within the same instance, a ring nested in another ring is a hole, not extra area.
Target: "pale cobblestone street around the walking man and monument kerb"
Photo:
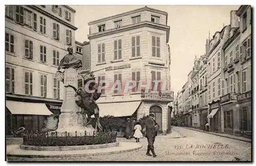
[[[134,142],[135,139],[118,138],[117,141]],[[251,143],[181,127],[174,127],[171,134],[157,136],[156,158],[145,155],[146,138],[142,138],[138,144],[142,144],[143,148],[120,154],[67,158],[8,157],[8,161],[251,161]],[[211,149],[208,149],[209,147]]]

